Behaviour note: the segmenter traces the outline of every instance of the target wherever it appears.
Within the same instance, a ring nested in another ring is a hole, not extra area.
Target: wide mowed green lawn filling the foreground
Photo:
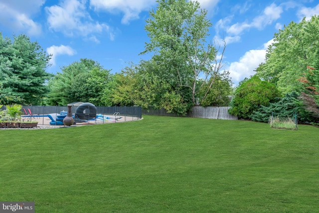
[[[319,129],[144,116],[0,131],[0,201],[36,213],[319,211]]]

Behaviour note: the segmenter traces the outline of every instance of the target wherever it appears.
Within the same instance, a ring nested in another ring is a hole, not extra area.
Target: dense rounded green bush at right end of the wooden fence
[[[280,92],[275,84],[262,81],[258,76],[245,80],[234,92],[228,112],[238,118],[249,119],[250,115],[262,105],[269,106]]]

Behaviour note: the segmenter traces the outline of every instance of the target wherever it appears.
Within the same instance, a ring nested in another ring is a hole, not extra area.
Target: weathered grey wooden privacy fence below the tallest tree
[[[237,116],[228,113],[230,107],[201,107],[194,106],[187,113],[186,117],[191,118],[210,118],[222,120],[238,120]],[[142,109],[143,115],[158,115],[158,116],[178,116],[176,113],[167,113],[164,109],[147,110]]]

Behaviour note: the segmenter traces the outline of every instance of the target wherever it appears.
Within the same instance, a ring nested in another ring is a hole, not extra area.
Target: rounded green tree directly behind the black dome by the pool
[[[51,89],[48,94],[49,105],[62,105],[82,101],[96,106],[103,105],[103,91],[110,80],[110,70],[91,59],[80,59],[80,62],[62,67],[49,81]]]

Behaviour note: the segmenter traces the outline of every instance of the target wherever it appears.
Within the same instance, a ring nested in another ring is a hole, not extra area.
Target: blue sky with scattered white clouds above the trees
[[[254,74],[278,29],[319,14],[317,0],[198,0],[213,26],[208,39],[227,43],[224,69],[237,84]],[[149,41],[144,27],[156,0],[0,0],[3,36],[26,34],[52,54],[50,73],[80,58],[112,72],[139,55]]]

